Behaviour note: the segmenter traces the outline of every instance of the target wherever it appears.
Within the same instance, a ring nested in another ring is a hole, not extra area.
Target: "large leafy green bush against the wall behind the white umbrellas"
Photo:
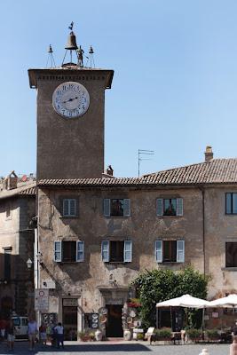
[[[145,327],[155,325],[155,304],[189,294],[206,298],[209,278],[194,271],[192,266],[180,272],[172,270],[152,270],[140,273],[131,286],[137,290],[141,304],[139,316]]]

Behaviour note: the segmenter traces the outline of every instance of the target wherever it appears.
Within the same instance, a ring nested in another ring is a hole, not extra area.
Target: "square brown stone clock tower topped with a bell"
[[[37,90],[37,179],[101,177],[104,171],[105,90],[114,71],[83,67],[74,32],[66,50],[69,63],[28,70]]]

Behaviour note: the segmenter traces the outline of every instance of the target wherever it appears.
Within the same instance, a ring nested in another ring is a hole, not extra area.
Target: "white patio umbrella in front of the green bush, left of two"
[[[190,295],[183,295],[177,298],[171,298],[170,300],[160,302],[156,304],[156,307],[185,307],[185,308],[206,308],[209,306],[209,301],[205,301],[201,298],[197,298]]]

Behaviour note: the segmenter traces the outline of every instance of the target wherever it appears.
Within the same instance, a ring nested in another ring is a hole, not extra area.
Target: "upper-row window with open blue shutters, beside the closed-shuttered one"
[[[130,217],[130,199],[104,199],[104,216]]]

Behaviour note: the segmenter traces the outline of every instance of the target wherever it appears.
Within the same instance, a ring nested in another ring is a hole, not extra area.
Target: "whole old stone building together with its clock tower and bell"
[[[192,264],[211,275],[209,298],[236,289],[237,160],[215,160],[207,147],[199,164],[103,176],[113,74],[81,59],[28,71],[37,90],[37,283],[71,338],[101,312],[107,335],[121,336],[130,281],[146,269]]]

